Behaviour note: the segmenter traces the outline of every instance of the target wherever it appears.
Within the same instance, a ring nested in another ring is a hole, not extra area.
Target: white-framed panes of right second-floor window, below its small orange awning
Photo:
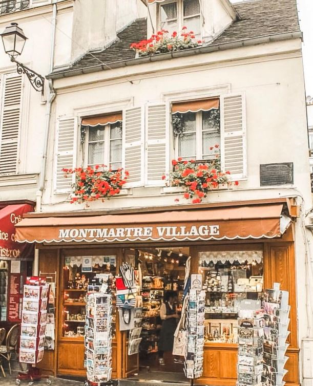
[[[211,160],[220,146],[220,124],[212,124],[212,110],[181,114],[183,135],[175,137],[175,157],[183,160]]]

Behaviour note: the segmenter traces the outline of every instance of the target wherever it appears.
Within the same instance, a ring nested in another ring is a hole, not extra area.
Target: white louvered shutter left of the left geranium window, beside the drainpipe
[[[56,128],[55,183],[56,193],[68,193],[75,176],[65,177],[63,168],[74,168],[76,163],[76,119],[59,118]]]

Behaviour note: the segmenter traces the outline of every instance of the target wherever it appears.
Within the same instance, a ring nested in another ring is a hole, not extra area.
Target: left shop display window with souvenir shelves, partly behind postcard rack
[[[64,258],[61,338],[83,339],[87,291],[97,292],[97,289],[100,289],[102,278],[113,279],[113,275],[116,273],[116,255],[68,256]],[[115,313],[112,318],[112,336],[114,338]]]

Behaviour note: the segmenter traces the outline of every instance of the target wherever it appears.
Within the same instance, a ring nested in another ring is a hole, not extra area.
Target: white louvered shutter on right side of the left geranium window
[[[144,182],[144,107],[124,110],[123,168],[129,172],[126,188]]]

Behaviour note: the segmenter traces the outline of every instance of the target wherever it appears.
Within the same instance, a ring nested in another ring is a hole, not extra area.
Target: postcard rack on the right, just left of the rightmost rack
[[[262,386],[264,317],[261,302],[243,300],[238,310],[237,386]]]

